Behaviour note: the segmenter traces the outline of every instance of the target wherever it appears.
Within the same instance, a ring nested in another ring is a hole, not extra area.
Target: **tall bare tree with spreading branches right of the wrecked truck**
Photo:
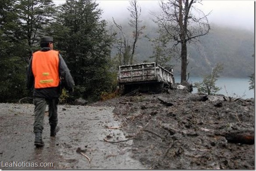
[[[210,31],[207,16],[196,8],[199,0],[162,0],[159,4],[161,15],[155,16],[160,29],[174,41],[174,46],[181,44],[181,82],[187,80],[187,43],[197,40]]]

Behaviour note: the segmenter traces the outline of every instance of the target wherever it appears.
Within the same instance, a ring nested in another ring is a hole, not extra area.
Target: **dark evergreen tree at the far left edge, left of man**
[[[14,102],[25,95],[25,62],[19,58],[18,15],[15,0],[0,3],[0,102]]]

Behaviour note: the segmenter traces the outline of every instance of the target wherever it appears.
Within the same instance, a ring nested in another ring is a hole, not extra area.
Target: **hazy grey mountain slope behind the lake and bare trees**
[[[146,26],[142,36],[144,35],[156,37],[156,26],[150,24]],[[132,42],[132,36],[129,40]],[[147,38],[138,40],[135,63],[153,61],[149,58],[153,53],[151,44]],[[254,32],[212,25],[210,33],[200,37],[199,42],[188,44],[187,71],[190,76],[203,76],[210,73],[216,63],[221,62],[224,64],[221,76],[247,77],[254,72],[253,54]],[[172,59],[171,64],[174,65],[174,74],[180,75],[180,60]]]

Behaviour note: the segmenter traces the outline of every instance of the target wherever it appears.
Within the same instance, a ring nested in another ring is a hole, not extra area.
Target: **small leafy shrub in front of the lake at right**
[[[196,82],[195,87],[199,93],[206,93],[212,95],[218,92],[221,88],[215,85],[217,78],[219,78],[219,73],[223,70],[223,64],[218,63],[212,69],[211,74],[205,75],[203,77],[203,82]]]

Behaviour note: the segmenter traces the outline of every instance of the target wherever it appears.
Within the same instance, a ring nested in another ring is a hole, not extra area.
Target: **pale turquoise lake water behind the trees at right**
[[[174,77],[175,82],[180,82],[180,77]],[[189,83],[202,82],[202,77],[190,77]],[[218,78],[216,85],[221,88],[217,94],[231,96],[235,98],[249,99],[254,98],[254,90],[249,90],[249,77],[248,78]],[[197,89],[193,88],[193,93]]]

